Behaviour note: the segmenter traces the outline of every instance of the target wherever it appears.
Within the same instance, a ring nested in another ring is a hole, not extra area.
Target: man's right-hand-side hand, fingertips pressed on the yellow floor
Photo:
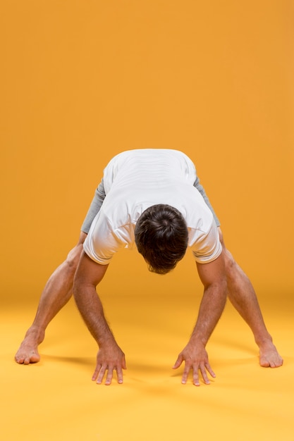
[[[178,359],[173,366],[173,369],[177,369],[185,361],[185,368],[182,376],[182,383],[185,385],[188,380],[188,375],[192,369],[193,384],[195,386],[200,386],[199,381],[199,371],[201,372],[204,383],[209,385],[209,379],[207,377],[207,371],[212,375],[213,378],[216,377],[214,371],[209,365],[208,355],[204,347],[196,347],[190,343],[183,349],[178,355]]]

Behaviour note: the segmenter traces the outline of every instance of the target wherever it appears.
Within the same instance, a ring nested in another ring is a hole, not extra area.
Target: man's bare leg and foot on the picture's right
[[[277,368],[283,364],[283,359],[278,354],[266,328],[255,290],[247,275],[235,262],[230,251],[226,249],[220,229],[219,236],[225,251],[228,298],[252,330],[259,347],[260,366]]]

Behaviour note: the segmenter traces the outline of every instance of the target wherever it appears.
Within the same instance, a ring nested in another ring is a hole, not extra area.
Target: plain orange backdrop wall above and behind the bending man
[[[106,162],[144,147],[185,151],[221,218],[228,248],[258,282],[288,286],[294,246],[290,5],[4,2],[4,287],[43,283],[77,240]]]

